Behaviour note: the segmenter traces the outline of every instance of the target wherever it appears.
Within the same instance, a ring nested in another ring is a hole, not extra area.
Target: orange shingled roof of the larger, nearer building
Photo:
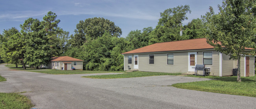
[[[152,45],[144,46],[122,54],[136,54],[136,53],[149,53],[149,52],[168,52],[168,51],[182,51],[182,50],[200,50],[200,49],[213,49],[213,46],[206,42],[205,38],[188,39],[182,41],[171,41],[164,43],[155,43]],[[252,49],[252,48],[246,48]]]

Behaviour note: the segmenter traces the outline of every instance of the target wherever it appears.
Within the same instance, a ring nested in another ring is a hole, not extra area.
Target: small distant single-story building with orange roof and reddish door
[[[52,57],[49,65],[45,66],[45,68],[58,70],[71,70],[75,68],[76,70],[83,70],[83,60],[69,56]]]

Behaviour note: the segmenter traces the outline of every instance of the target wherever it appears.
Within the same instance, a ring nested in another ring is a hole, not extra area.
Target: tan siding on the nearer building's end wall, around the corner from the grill
[[[229,58],[230,56],[222,54],[222,76],[233,75],[234,60]]]

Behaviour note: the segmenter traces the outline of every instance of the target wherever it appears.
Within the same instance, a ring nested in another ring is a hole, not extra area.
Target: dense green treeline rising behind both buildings
[[[43,21],[24,21],[21,31],[14,27],[4,30],[0,34],[1,59],[38,67],[48,64],[51,57],[67,55],[84,60],[84,70],[123,70],[123,52],[154,43],[205,38],[210,14],[182,24],[190,13],[189,5],[166,9],[160,13],[156,27],[132,30],[126,38],[120,38],[122,30],[114,22],[96,17],[79,21],[75,34],[69,35],[58,27],[57,15],[48,12]]]

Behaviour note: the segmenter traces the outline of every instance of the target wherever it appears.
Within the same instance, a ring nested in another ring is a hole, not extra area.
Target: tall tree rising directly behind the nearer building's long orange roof
[[[180,28],[182,21],[187,20],[187,13],[191,13],[189,5],[166,9],[160,13],[158,25],[150,34],[150,44],[185,39],[180,36]]]

